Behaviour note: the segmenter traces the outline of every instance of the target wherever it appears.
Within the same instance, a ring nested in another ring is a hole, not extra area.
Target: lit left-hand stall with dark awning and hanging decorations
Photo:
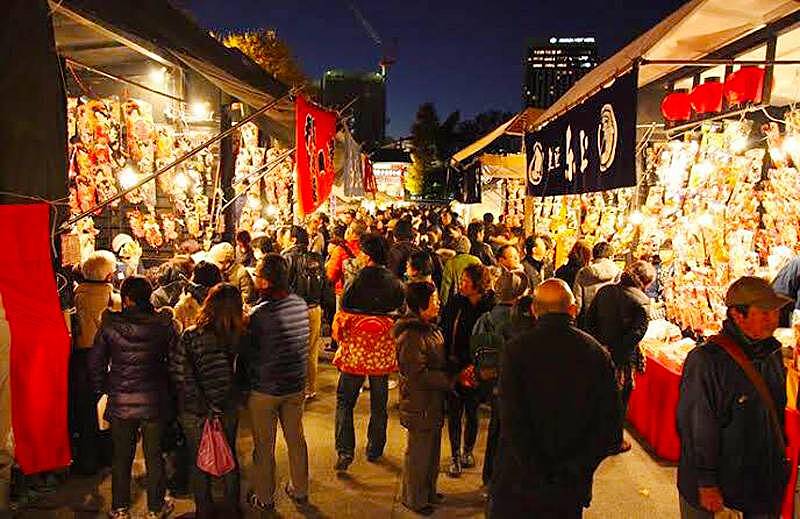
[[[129,236],[125,256],[151,266],[186,240],[208,248],[291,214],[285,86],[166,2],[52,7],[67,95],[66,262]]]

